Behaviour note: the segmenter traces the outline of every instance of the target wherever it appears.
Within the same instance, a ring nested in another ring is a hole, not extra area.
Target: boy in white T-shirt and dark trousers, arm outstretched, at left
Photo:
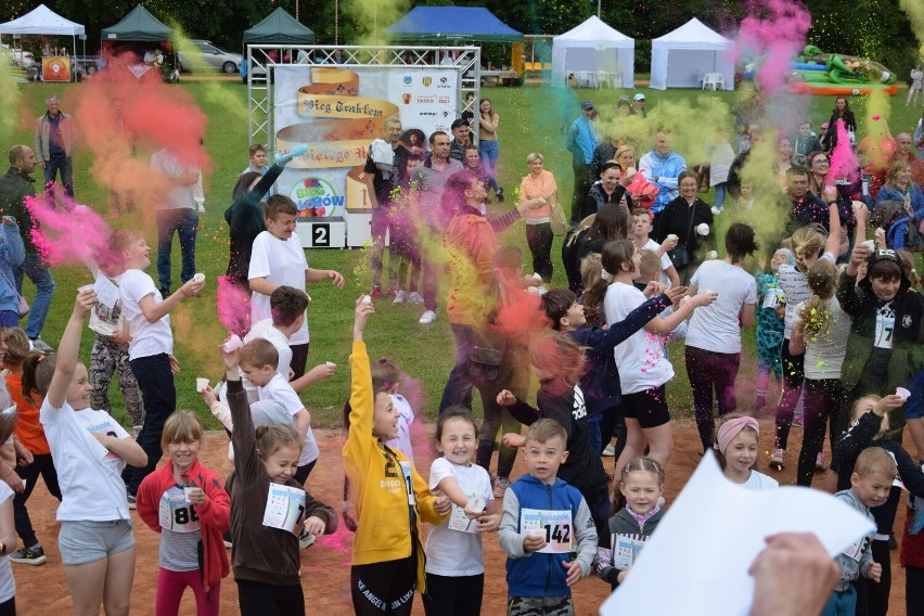
[[[198,295],[205,281],[190,279],[165,299],[154,280],[142,271],[151,265],[151,248],[140,231],[119,229],[113,233],[110,248],[120,253],[125,261],[126,270],[119,281],[119,292],[125,320],[131,332],[128,364],[138,380],[144,405],[144,423],[138,434],[138,445],[147,454],[147,464],[143,467],[128,464],[121,473],[128,490],[129,508],[134,509],[138,486],[161,461],[164,422],[177,407],[174,374],[179,372],[180,364],[172,355],[170,312],[187,297]]]

